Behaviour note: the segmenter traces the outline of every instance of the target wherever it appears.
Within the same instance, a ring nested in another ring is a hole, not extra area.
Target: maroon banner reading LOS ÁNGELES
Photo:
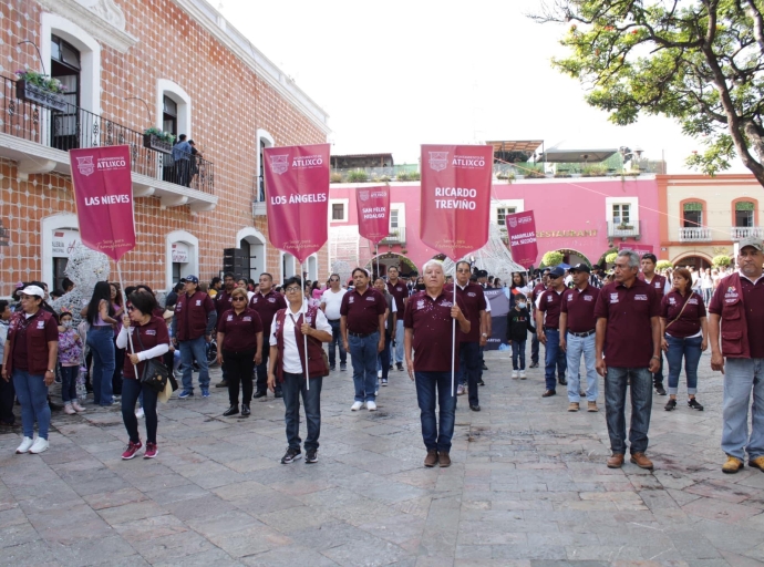
[[[268,238],[300,264],[329,238],[329,144],[264,150]]]

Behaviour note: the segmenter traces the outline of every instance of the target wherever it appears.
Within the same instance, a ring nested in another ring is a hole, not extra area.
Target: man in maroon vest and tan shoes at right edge
[[[740,270],[722,279],[709,305],[711,368],[724,373],[722,451],[725,473],[764,471],[764,243],[740,241]],[[720,348],[721,338],[721,348]],[[726,367],[726,368],[725,368]],[[751,393],[753,392],[753,404]],[[748,406],[751,436],[748,436]]]

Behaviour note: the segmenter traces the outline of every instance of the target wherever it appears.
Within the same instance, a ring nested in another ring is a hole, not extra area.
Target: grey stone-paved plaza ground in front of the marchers
[[[512,380],[504,352],[486,363],[483,411],[460,399],[444,470],[422,466],[414,386],[398,371],[375,413],[350,411],[350,372],[324,379],[311,465],[279,464],[280,400],[226,419],[221,389],[161,406],[154,461],[120,458],[116,408],[55,413],[40,456],[14,455],[20,431],[3,430],[0,564],[762,565],[764,474],[721,473],[722,380],[708,353],[704,412],[653,399],[654,473],[605,466],[603,410],[541,399],[541,370]]]

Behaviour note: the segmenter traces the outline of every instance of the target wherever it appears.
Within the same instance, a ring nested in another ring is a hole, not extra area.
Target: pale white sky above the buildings
[[[420,144],[544,140],[640,147],[669,173],[698,173],[684,159],[703,146],[673,121],[611,124],[551,68],[566,28],[527,17],[540,0],[209,1],[329,114],[333,155],[390,152],[402,164]]]

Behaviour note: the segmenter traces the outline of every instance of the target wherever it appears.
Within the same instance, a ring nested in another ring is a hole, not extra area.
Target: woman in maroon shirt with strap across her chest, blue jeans
[[[692,275],[686,268],[673,274],[673,289],[661,301],[661,348],[669,361],[669,402],[665,411],[677,408],[679,374],[682,359],[688,377],[688,405],[703,411],[695,400],[698,391],[698,363],[708,348],[708,326],[703,298],[692,291]]]

